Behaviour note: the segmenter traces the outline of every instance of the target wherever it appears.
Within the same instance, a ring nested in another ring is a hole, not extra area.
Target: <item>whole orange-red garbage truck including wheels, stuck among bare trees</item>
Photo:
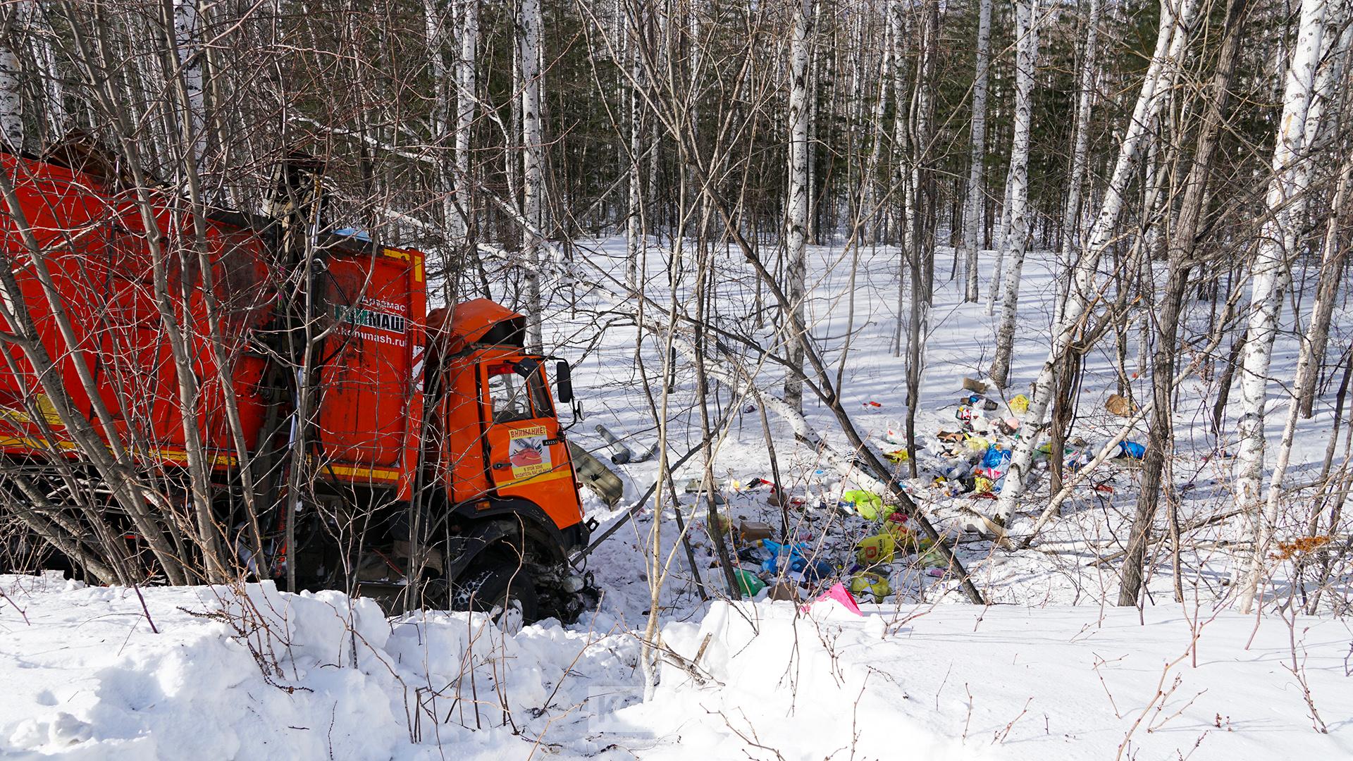
[[[566,429],[582,410],[568,363],[525,348],[524,316],[429,310],[423,253],[319,223],[317,162],[284,164],[264,214],[188,214],[89,156],[0,153],[0,330],[37,337],[0,343],[0,489],[26,474],[74,500],[62,482],[93,479],[92,431],[153,504],[207,470],[241,575],[578,611],[568,557],[590,525]],[[135,554],[143,532],[100,493],[64,520],[92,509]]]

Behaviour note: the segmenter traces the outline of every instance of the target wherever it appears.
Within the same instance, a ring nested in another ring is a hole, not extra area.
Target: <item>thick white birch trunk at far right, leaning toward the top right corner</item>
[[[1272,539],[1276,509],[1272,515],[1262,508],[1261,482],[1264,478],[1264,420],[1268,402],[1268,372],[1273,357],[1273,339],[1277,336],[1287,290],[1287,263],[1296,246],[1296,226],[1300,222],[1308,158],[1304,154],[1307,119],[1315,89],[1316,68],[1325,41],[1326,0],[1303,0],[1292,61],[1287,69],[1283,92],[1283,116],[1273,146],[1273,176],[1269,180],[1265,206],[1268,217],[1260,232],[1254,265],[1250,268],[1249,339],[1245,341],[1241,372],[1241,416],[1237,432],[1241,436],[1235,455],[1235,500],[1243,510],[1245,531],[1254,540],[1247,567],[1243,571],[1237,604],[1249,612],[1258,594],[1264,575],[1264,555]],[[1315,129],[1315,125],[1311,125]],[[1279,487],[1281,473],[1273,474]],[[1275,505],[1276,508],[1276,505]],[[1239,575],[1239,569],[1237,574]],[[1238,580],[1239,581],[1239,580]]]

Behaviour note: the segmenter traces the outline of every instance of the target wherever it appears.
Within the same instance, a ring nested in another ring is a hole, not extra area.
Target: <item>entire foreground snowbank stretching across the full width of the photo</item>
[[[131,590],[0,577],[0,592],[5,758],[1353,754],[1334,619],[714,603],[663,627],[643,701],[637,638],[605,613],[505,636],[336,593],[156,588],[154,634]]]

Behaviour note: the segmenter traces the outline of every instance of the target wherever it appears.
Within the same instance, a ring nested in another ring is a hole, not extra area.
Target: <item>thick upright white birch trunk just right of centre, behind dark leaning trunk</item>
[[[808,233],[808,121],[809,38],[813,32],[813,0],[796,0],[794,31],[789,46],[789,203],[785,209],[785,240],[789,280],[786,294],[794,309],[794,324],[805,325],[804,280],[806,274]],[[804,383],[794,371],[804,366],[804,349],[793,337],[789,344],[789,375],[785,378],[785,401],[802,409]]]

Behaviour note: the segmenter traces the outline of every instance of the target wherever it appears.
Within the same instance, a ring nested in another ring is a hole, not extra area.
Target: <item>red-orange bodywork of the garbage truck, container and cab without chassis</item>
[[[110,190],[47,161],[0,153],[0,164],[22,213],[0,203],[4,256],[60,385],[106,441],[138,467],[181,469],[187,417],[222,483],[241,448],[253,458],[285,441],[276,418],[287,385],[269,376],[280,364],[258,336],[287,334],[280,294],[299,284],[288,280],[295,267],[275,264],[277,244],[258,219],[193,217],[168,191]],[[538,525],[518,543],[534,536],[561,561],[586,529],[545,357],[521,345],[524,318],[486,299],[429,316],[421,252],[329,238],[307,307],[323,336],[310,473],[373,508],[434,493],[423,501],[452,516],[446,531],[480,536],[476,551],[507,531],[484,528],[495,516],[526,516]],[[170,325],[189,347],[193,397],[180,386]],[[0,330],[11,328],[0,317]],[[78,459],[26,352],[14,343],[0,352],[0,454]],[[468,562],[442,565],[451,574]]]

